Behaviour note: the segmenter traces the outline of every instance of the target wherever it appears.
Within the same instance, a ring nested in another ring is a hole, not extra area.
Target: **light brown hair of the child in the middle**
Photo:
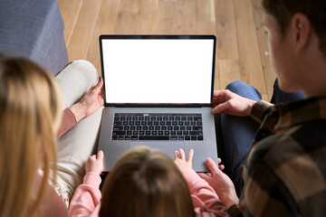
[[[106,178],[100,216],[195,216],[187,183],[164,153],[131,149]]]

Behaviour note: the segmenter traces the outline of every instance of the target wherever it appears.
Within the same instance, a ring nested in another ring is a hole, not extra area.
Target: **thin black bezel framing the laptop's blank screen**
[[[215,81],[215,65],[216,65],[216,35],[157,35],[157,34],[142,34],[142,35],[128,35],[128,34],[101,34],[99,36],[100,41],[100,53],[101,53],[101,76],[105,80],[104,63],[103,63],[103,51],[102,51],[102,40],[106,39],[135,39],[135,40],[147,40],[147,39],[202,39],[202,40],[213,40],[213,64],[212,64],[212,79],[211,79],[211,91],[210,91],[210,102],[209,103],[108,103],[106,102],[105,85],[103,84],[103,99],[105,107],[149,107],[149,108],[164,108],[164,107],[175,107],[175,108],[186,108],[186,107],[212,107],[213,105],[213,92],[214,92],[214,81]]]

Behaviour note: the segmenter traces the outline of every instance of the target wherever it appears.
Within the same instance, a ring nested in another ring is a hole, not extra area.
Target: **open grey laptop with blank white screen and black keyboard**
[[[215,35],[100,35],[100,51],[104,171],[135,146],[172,159],[193,148],[197,172],[207,172],[206,157],[217,164]]]

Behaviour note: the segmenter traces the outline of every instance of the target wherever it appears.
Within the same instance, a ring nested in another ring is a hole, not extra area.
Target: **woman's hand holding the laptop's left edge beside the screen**
[[[99,82],[96,86],[92,87],[82,99],[73,104],[71,108],[73,115],[75,116],[77,122],[80,121],[82,118],[86,118],[91,116],[97,109],[100,109],[101,106],[104,104],[103,95],[102,95],[102,88],[103,80],[101,77]]]

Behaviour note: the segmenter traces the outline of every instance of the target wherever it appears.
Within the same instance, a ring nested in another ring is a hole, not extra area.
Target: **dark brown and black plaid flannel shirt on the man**
[[[268,112],[270,110],[270,112]],[[264,121],[244,168],[233,216],[326,216],[326,97],[273,108],[259,101]]]

